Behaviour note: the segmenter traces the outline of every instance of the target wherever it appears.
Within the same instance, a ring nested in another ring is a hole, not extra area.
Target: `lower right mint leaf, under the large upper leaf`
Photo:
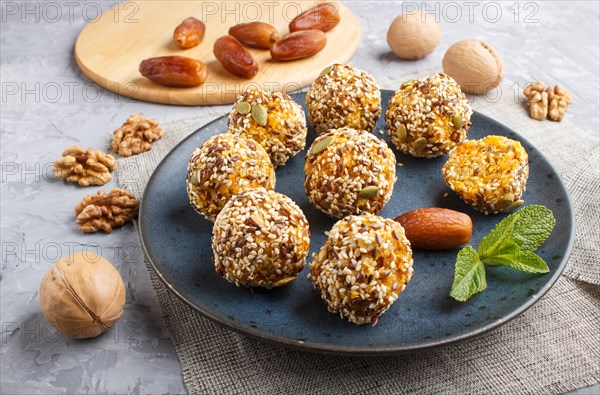
[[[548,265],[534,252],[519,248],[513,240],[505,240],[493,256],[485,258],[488,265],[503,265],[527,273],[548,273]]]

